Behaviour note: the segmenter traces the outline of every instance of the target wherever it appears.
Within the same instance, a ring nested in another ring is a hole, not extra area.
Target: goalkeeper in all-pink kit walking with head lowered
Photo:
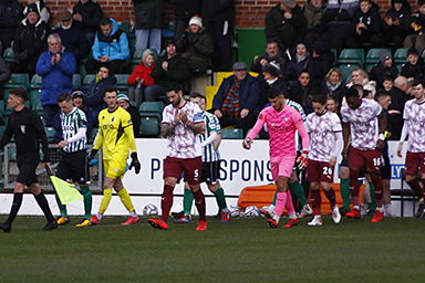
[[[278,228],[283,208],[287,208],[289,221],[284,227],[290,228],[299,222],[293,209],[291,193],[288,191],[289,177],[297,158],[296,132],[298,130],[302,139],[302,155],[297,160],[301,169],[307,166],[309,136],[300,113],[286,104],[284,95],[279,88],[271,88],[268,97],[271,106],[263,108],[258,115],[257,123],[248,133],[242,146],[250,149],[252,140],[263,125],[267,125],[270,136],[271,174],[278,190],[274,217],[269,219],[267,223],[270,228]]]

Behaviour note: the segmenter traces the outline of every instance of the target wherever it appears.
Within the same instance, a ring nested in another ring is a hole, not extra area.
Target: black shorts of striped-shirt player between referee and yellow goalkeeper
[[[58,165],[56,177],[62,180],[73,180],[79,184],[89,184],[89,163],[86,150],[62,153]]]

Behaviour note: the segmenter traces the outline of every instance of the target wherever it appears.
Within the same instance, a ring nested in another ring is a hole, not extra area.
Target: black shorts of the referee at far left
[[[18,178],[17,181],[30,186],[38,182],[35,170],[40,163],[39,153],[28,153],[17,156]]]

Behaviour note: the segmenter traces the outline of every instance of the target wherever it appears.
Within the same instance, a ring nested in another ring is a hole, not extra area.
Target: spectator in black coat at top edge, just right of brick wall
[[[266,14],[266,39],[278,41],[282,50],[293,46],[305,32],[307,20],[294,0],[280,0]]]

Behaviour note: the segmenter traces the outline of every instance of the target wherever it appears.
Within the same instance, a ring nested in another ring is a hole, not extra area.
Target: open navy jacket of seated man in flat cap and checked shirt
[[[217,94],[214,96],[212,109],[221,109],[222,103],[230,90],[235,84],[235,75],[231,75],[222,81]],[[258,78],[250,74],[243,78],[240,85],[239,105],[240,109],[249,109],[257,112],[260,106],[261,99],[261,85]]]

